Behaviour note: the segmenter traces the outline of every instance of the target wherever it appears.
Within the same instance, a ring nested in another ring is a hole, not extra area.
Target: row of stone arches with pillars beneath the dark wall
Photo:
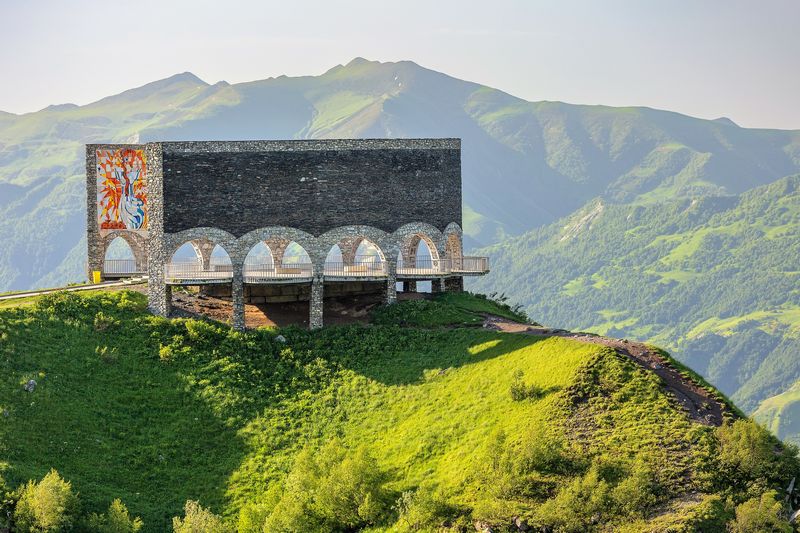
[[[175,259],[186,243],[197,256],[189,270]],[[203,251],[214,247],[224,250],[224,265],[215,264],[212,254]],[[309,324],[314,328],[322,325],[324,281],[385,280],[386,301],[393,302],[398,278],[408,286],[417,279],[431,280],[433,290],[441,291],[446,281],[454,281],[446,278],[458,277],[460,282],[465,264],[461,227],[451,223],[441,231],[424,222],[405,224],[391,233],[372,226],[342,226],[319,236],[284,226],[260,228],[238,238],[219,228],[192,228],[164,235],[163,254],[158,255],[164,262],[151,258],[151,310],[169,312],[170,285],[231,283],[237,328],[244,327],[244,284],[310,283]]]

